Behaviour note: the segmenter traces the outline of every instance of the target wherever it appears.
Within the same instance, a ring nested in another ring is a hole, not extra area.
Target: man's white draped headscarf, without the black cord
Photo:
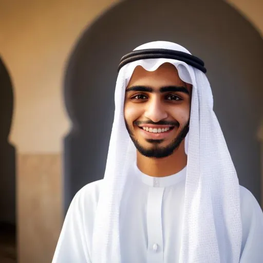
[[[151,42],[135,50],[173,49],[190,53],[170,42]],[[241,248],[239,183],[213,111],[213,96],[205,74],[184,62],[147,59],[121,68],[115,91],[115,117],[108,158],[95,218],[93,263],[120,263],[119,216],[127,171],[136,161],[136,148],[124,123],[125,88],[136,66],[148,71],[173,64],[180,78],[193,85],[190,130],[185,143],[187,173],[180,263],[237,263]],[[122,263],[125,263],[122,261]]]

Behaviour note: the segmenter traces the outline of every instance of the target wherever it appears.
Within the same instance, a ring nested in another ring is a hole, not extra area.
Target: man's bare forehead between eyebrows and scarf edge
[[[170,85],[185,86],[180,79],[176,67],[170,63],[164,63],[155,71],[147,71],[142,66],[137,66],[129,80],[127,87],[145,85],[153,88]]]

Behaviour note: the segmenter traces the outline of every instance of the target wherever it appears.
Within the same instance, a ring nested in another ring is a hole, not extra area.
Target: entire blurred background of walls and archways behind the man
[[[103,178],[120,58],[172,41],[205,61],[241,185],[263,205],[261,0],[0,0],[0,262],[51,262]]]

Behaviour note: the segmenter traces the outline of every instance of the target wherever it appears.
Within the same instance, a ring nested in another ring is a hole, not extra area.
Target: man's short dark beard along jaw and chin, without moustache
[[[147,139],[146,141],[153,144],[153,147],[146,148],[143,147],[137,139],[135,139],[132,131],[129,129],[128,124],[125,121],[125,125],[127,131],[129,133],[130,139],[132,139],[137,151],[145,157],[149,158],[164,158],[167,156],[172,155],[176,149],[180,146],[181,142],[184,140],[185,136],[189,132],[189,122],[188,121],[183,128],[179,135],[167,146],[159,147],[158,145],[163,142],[163,140],[154,140],[154,139]]]

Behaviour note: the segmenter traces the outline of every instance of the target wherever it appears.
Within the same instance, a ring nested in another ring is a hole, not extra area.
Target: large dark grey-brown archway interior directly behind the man
[[[256,131],[263,112],[259,33],[221,0],[127,0],[87,28],[69,59],[64,93],[73,126],[65,138],[65,211],[82,186],[104,176],[120,58],[157,40],[181,44],[205,61],[214,109],[240,184],[259,201]]]

